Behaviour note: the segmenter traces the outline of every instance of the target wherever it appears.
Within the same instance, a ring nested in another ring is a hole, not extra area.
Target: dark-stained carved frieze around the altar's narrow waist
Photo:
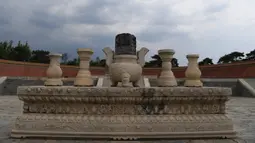
[[[170,104],[170,105],[121,105],[121,104],[64,104],[31,103],[23,106],[24,113],[88,114],[88,115],[174,115],[174,114],[223,114],[220,104]]]

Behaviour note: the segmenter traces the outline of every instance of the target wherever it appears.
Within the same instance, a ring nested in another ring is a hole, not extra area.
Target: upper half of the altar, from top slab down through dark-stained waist
[[[224,114],[228,88],[19,87],[24,113],[86,115]],[[67,104],[68,103],[68,104]],[[182,103],[182,104],[180,104]]]

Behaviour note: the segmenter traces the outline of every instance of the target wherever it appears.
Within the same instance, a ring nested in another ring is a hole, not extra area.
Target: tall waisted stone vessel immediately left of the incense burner
[[[89,62],[93,54],[93,50],[89,48],[79,48],[77,53],[80,58],[80,69],[75,78],[75,86],[93,86],[93,79],[89,71]]]

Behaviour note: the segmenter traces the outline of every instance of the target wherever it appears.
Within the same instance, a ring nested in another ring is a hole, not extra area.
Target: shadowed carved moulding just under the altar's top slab
[[[180,102],[190,104],[211,104],[211,103],[222,103],[227,101],[225,96],[190,96],[190,97],[124,97],[124,96],[67,96],[67,95],[19,95],[20,100],[30,102],[64,102],[64,103],[93,103],[93,104],[179,104]]]

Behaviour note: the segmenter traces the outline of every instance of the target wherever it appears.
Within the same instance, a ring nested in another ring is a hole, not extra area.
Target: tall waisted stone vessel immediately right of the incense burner
[[[174,53],[172,49],[162,49],[158,51],[162,60],[162,69],[158,78],[158,86],[160,87],[177,86],[171,63]]]

